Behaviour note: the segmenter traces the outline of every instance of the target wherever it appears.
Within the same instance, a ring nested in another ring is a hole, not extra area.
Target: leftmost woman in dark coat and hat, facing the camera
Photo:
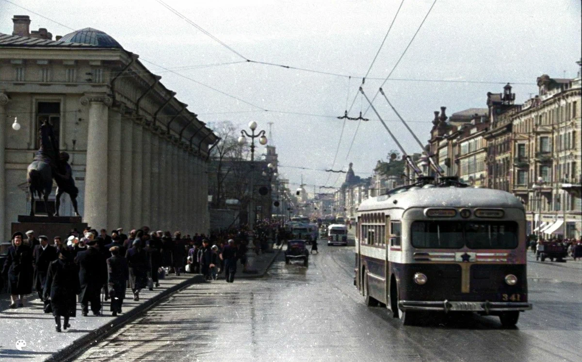
[[[33,289],[33,251],[22,238],[21,232],[12,235],[12,246],[2,268],[2,275],[8,277],[10,308],[23,307],[24,294],[30,294]]]

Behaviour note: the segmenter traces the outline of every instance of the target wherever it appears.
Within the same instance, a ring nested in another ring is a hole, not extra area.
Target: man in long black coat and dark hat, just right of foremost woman
[[[88,314],[89,303],[93,315],[101,315],[101,289],[107,282],[107,263],[95,244],[95,240],[87,240],[87,250],[80,251],[75,258],[79,265],[79,301],[83,317]]]

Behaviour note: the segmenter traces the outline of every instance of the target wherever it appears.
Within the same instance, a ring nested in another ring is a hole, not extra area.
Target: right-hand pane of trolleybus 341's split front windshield
[[[465,240],[470,249],[514,249],[517,247],[517,223],[467,222]]]

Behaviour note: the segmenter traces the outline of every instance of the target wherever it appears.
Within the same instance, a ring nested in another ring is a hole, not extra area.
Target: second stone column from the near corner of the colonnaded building
[[[109,203],[107,207],[107,230],[117,229],[121,223],[121,113],[123,109],[109,110],[108,152],[109,177],[107,189],[109,191]],[[105,226],[103,226],[105,228]]]

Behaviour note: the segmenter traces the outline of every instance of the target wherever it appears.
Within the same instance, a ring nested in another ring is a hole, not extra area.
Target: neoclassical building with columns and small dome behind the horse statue
[[[70,154],[90,226],[207,232],[212,130],[108,34],[52,40],[31,32],[28,16],[13,23],[13,34],[0,33],[0,235],[30,212],[26,168],[45,119]],[[63,196],[61,215],[71,211]]]

